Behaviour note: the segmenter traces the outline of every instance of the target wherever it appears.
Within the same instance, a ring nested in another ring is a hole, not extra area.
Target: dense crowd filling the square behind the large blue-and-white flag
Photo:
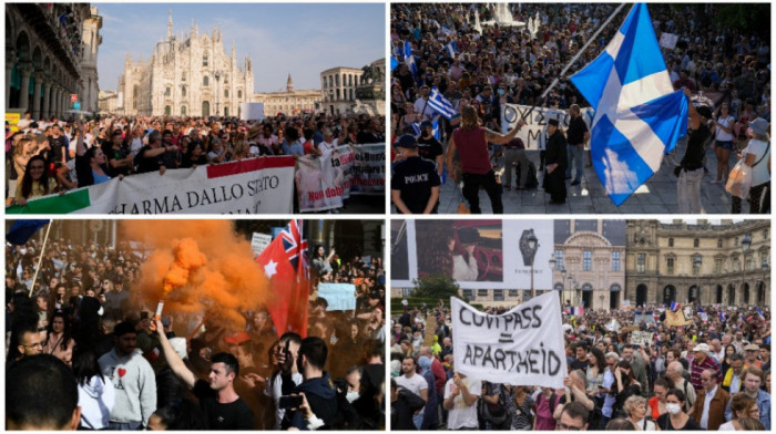
[[[598,56],[609,44],[617,31],[622,19],[629,8],[620,12],[595,38],[591,45],[579,56],[568,70],[566,75],[561,76],[561,71],[574,58],[579,50],[592,38],[593,33],[603,24],[617,4],[613,3],[529,3],[512,4],[511,13],[515,22],[525,25],[492,24],[494,9],[486,3],[425,3],[425,4],[391,4],[390,43],[391,56],[399,63],[391,75],[391,143],[396,143],[402,134],[418,135],[412,124],[430,121],[439,117],[437,112],[428,103],[430,90],[436,87],[456,108],[457,113],[464,114],[464,107],[471,106],[477,113],[482,127],[499,132],[501,130],[501,108],[504,104],[522,104],[551,107],[560,111],[569,111],[575,105],[583,110],[589,106],[569,76],[581,70]],[[675,162],[682,169],[696,169],[696,163],[703,166],[701,176],[709,173],[707,182],[713,184],[725,183],[733,165],[731,154],[741,153],[739,158],[748,158],[762,154],[765,146],[755,146],[751,143],[751,122],[762,118],[764,124],[755,128],[758,141],[767,143],[769,134],[760,132],[769,127],[770,122],[770,48],[769,32],[766,29],[752,27],[746,31],[726,25],[717,19],[717,7],[712,3],[704,4],[650,4],[650,14],[653,20],[655,33],[670,33],[678,38],[674,49],[662,48],[664,61],[668,70],[671,81],[675,89],[686,87],[694,97],[694,103],[703,101],[709,108],[704,124],[708,131],[703,133],[702,148],[698,158],[701,162],[690,158],[676,157]],[[477,28],[479,17],[480,28]],[[490,24],[482,24],[491,21]],[[451,55],[447,45],[455,42],[458,52]],[[417,74],[413,74],[408,62],[405,62],[406,43],[409,43],[415,59]],[[558,79],[558,84],[548,95],[541,95]],[[724,114],[722,111],[725,111]],[[439,117],[442,146],[426,146],[421,148],[420,156],[441,165],[438,159],[452,137],[452,132],[463,121],[452,118],[447,121]],[[586,128],[585,128],[586,130]],[[569,148],[578,145],[589,149],[589,136],[580,143],[572,143],[569,132]],[[549,135],[548,135],[549,136]],[[528,164],[523,164],[525,157],[514,156],[504,162],[497,142],[488,138],[488,147],[493,167],[502,167],[503,190],[511,188],[523,189],[524,176]],[[580,135],[580,141],[582,141]],[[686,145],[680,144],[680,148]],[[747,147],[748,146],[748,147]],[[539,140],[539,161],[535,163],[538,170],[545,169],[544,154],[550,152],[545,140]],[[565,144],[564,146],[565,147]],[[690,149],[688,146],[687,149]],[[717,158],[717,167],[706,167],[706,151],[712,147]],[[755,149],[757,147],[757,151]],[[460,152],[460,144],[458,146]],[[521,151],[524,144],[514,140],[506,146],[506,149]],[[766,151],[767,153],[767,151]],[[571,178],[571,162],[576,158],[576,176],[571,185],[580,184],[582,162],[590,166],[590,152],[568,158],[565,178]],[[690,151],[687,151],[690,154]],[[395,154],[395,157],[400,155]],[[734,155],[735,157],[735,155]],[[448,162],[452,159],[448,156]],[[682,159],[682,162],[680,162]],[[753,159],[754,163],[757,159]],[[521,176],[519,184],[511,184],[511,165],[520,163]],[[509,167],[504,167],[504,163]],[[751,164],[749,163],[749,164]],[[453,180],[460,180],[455,176],[461,170],[458,165],[466,162],[448,163],[447,172]],[[550,165],[550,163],[547,163]],[[687,167],[685,167],[687,166]],[[466,175],[466,167],[463,168]],[[497,170],[498,172],[498,170]],[[769,200],[760,204],[769,197],[769,170],[753,183],[753,193],[749,197],[752,213],[769,211]],[[441,167],[439,173],[442,173]],[[549,173],[549,170],[548,170]],[[509,184],[506,182],[509,180]],[[561,184],[563,179],[561,179]],[[700,188],[700,180],[693,182],[688,190],[695,195]],[[758,188],[754,188],[758,187]],[[491,188],[492,189],[492,188]],[[564,189],[563,189],[564,190]],[[466,194],[464,194],[466,195]],[[493,195],[489,189],[491,202]],[[499,193],[500,195],[500,193]],[[564,195],[563,195],[564,196]],[[695,195],[697,196],[697,195]],[[469,198],[467,198],[469,199]],[[695,197],[692,197],[695,199]],[[558,200],[558,195],[553,195]],[[497,200],[498,202],[498,200]],[[690,203],[690,200],[684,200]],[[680,200],[682,204],[683,200]],[[693,213],[698,213],[698,200],[693,200],[696,206]],[[494,204],[494,211],[498,204]],[[472,205],[472,213],[476,206]],[[741,213],[741,200],[733,205],[733,213]]]

